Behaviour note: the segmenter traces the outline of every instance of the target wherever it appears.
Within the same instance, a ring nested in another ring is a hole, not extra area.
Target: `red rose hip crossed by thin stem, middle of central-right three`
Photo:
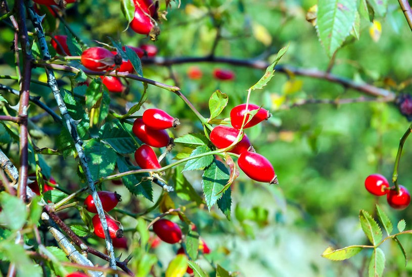
[[[218,149],[226,148],[236,140],[239,132],[240,131],[235,128],[219,125],[213,128],[210,133],[210,140]],[[229,150],[229,152],[241,154],[242,152],[248,151],[250,146],[250,141],[245,134],[241,141],[239,141],[232,150]]]

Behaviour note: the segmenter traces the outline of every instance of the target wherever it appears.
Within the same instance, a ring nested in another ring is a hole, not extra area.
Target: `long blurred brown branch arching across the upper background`
[[[155,57],[155,58],[142,58],[142,63],[147,65],[157,65],[157,66],[170,66],[170,65],[178,65],[178,64],[186,64],[186,63],[221,63],[221,64],[230,64],[234,66],[243,66],[249,68],[256,68],[265,70],[269,63],[261,60],[241,60],[241,59],[233,59],[233,58],[225,58],[225,57],[182,57],[182,58],[163,58],[163,57]],[[387,101],[394,101],[395,93],[386,90],[383,88],[378,88],[373,85],[365,84],[365,83],[357,83],[351,79],[337,76],[332,73],[319,71],[316,69],[304,69],[298,68],[289,65],[278,65],[274,68],[276,71],[291,74],[298,76],[306,76],[316,79],[323,79],[329,82],[338,83],[346,88],[350,88],[353,90],[357,90],[359,92],[369,94],[375,97],[384,97]]]

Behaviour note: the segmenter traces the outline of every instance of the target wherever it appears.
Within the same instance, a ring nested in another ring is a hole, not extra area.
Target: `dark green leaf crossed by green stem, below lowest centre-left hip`
[[[133,167],[124,157],[117,158],[117,168],[119,173],[126,171],[140,169],[139,167]],[[132,174],[122,177],[123,184],[134,195],[143,195],[150,201],[153,200],[152,182],[146,180],[150,175],[148,173]],[[142,180],[143,179],[143,180]]]

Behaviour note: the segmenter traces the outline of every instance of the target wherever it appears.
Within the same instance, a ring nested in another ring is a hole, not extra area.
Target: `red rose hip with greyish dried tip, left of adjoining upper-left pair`
[[[114,65],[114,54],[103,47],[91,47],[81,53],[81,64],[94,71],[105,71]]]

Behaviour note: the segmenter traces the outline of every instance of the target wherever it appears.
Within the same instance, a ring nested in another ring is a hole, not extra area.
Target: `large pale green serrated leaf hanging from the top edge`
[[[356,18],[356,1],[318,0],[316,30],[331,58],[352,30]]]

